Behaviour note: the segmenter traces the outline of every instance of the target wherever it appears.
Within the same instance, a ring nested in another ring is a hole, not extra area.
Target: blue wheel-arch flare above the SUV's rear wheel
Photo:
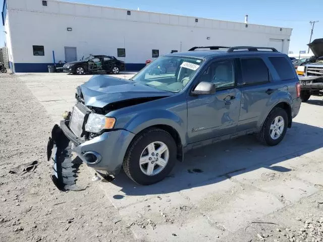
[[[293,98],[289,92],[278,91],[276,92],[267,102],[266,107],[261,112],[260,118],[258,119],[257,127],[262,127],[264,120],[273,108],[279,103],[287,103],[290,107],[293,103]]]

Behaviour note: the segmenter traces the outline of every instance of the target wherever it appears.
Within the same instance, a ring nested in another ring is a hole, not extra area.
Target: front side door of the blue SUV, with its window
[[[199,76],[198,83],[202,81],[214,83],[217,90],[210,95],[188,94],[189,143],[236,132],[241,102],[241,91],[237,88],[236,79],[234,58],[212,62]]]

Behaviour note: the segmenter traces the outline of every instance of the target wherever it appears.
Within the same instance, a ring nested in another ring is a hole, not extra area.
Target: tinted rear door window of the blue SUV
[[[268,82],[268,68],[260,58],[241,59],[243,85]]]

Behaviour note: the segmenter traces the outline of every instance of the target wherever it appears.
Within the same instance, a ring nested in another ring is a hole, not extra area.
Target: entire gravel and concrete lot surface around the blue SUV
[[[322,97],[302,104],[279,146],[248,136],[194,150],[148,187],[123,173],[94,182],[82,164],[86,189],[61,192],[46,142],[89,77],[0,76],[0,241],[323,240]],[[34,172],[9,173],[33,160]]]

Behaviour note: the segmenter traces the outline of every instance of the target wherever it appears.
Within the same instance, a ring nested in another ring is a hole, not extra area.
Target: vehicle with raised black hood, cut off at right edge
[[[312,94],[323,90],[323,39],[314,39],[308,44],[314,56],[301,66],[297,73],[301,82],[301,99],[306,102]]]

